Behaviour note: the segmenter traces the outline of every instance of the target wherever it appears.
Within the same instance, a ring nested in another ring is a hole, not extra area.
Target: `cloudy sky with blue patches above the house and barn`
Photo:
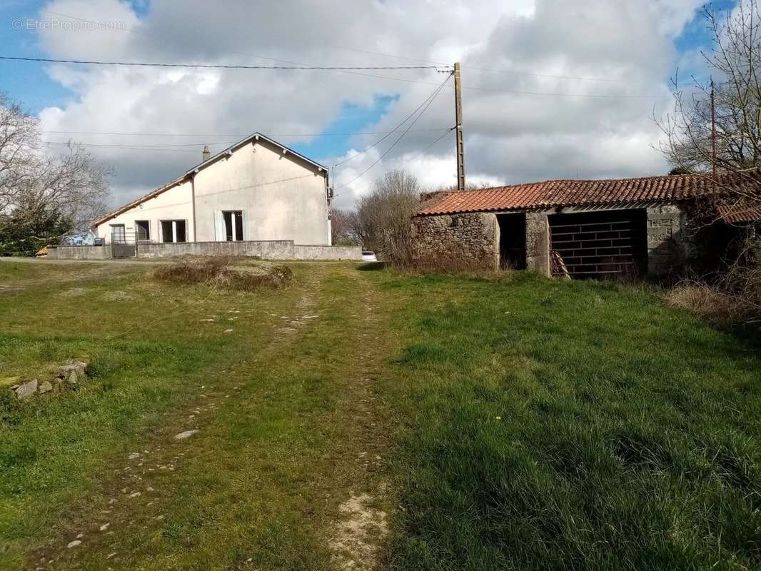
[[[731,10],[734,2],[713,5]],[[670,78],[677,69],[681,78],[706,73],[701,6],[226,0],[220,9],[209,0],[0,0],[0,56],[435,68],[0,61],[0,91],[39,116],[50,153],[79,142],[113,167],[113,206],[193,167],[203,145],[218,152],[257,131],[331,167],[338,208],[352,209],[395,168],[426,189],[452,186],[454,88],[446,71],[454,61],[462,65],[469,183],[648,176],[668,171],[652,117],[673,107]]]

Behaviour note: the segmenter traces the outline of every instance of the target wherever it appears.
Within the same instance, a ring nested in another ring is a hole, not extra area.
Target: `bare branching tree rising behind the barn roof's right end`
[[[724,199],[756,202],[761,200],[757,183],[724,186],[721,174],[754,177],[761,167],[759,0],[739,0],[726,15],[710,6],[700,14],[712,36],[712,48],[701,53],[712,80],[693,77],[685,91],[677,72],[672,80],[673,113],[654,118],[664,134],[661,151],[673,171],[710,177],[726,191]]]

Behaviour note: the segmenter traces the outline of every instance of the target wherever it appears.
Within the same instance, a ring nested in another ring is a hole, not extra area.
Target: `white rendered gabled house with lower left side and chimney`
[[[261,133],[93,222],[113,241],[330,245],[328,171]]]

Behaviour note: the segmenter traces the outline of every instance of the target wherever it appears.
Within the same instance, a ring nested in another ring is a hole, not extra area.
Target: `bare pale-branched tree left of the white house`
[[[32,227],[36,215],[53,210],[83,228],[105,210],[110,169],[75,143],[58,157],[43,145],[37,117],[0,94],[0,231],[11,221]]]

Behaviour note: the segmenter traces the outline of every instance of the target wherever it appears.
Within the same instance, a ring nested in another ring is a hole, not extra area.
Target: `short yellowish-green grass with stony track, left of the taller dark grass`
[[[26,403],[2,393],[0,568],[330,567],[339,504],[380,478],[357,459],[374,450],[356,410],[368,353],[335,336],[365,331],[353,266],[298,264],[294,285],[256,293],[45,270],[61,267],[0,295],[0,377],[75,358],[93,378]]]

